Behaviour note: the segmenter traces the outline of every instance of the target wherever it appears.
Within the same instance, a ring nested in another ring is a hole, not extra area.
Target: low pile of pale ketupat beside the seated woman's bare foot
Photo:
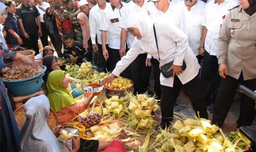
[[[117,123],[108,124],[105,123],[103,125],[95,125],[90,127],[90,131],[93,133],[93,137],[90,140],[112,140],[116,138],[121,128]]]

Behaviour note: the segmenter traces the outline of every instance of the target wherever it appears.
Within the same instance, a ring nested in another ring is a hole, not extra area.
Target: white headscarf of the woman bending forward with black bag
[[[127,29],[131,27],[139,29],[142,36],[140,40],[144,42],[151,42],[153,40],[153,21],[146,12],[139,11],[131,13],[125,21],[125,28]]]

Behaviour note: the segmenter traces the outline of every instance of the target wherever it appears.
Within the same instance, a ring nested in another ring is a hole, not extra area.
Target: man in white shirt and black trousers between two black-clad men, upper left
[[[38,9],[38,12],[40,13],[39,19],[41,22],[41,30],[42,30],[42,36],[40,37],[43,47],[49,45],[48,43],[48,35],[52,42],[54,42],[54,37],[52,34],[49,33],[49,30],[45,26],[44,22],[44,14],[46,13],[46,9],[50,7],[49,3],[46,3],[43,0],[38,0],[38,5],[35,6]]]

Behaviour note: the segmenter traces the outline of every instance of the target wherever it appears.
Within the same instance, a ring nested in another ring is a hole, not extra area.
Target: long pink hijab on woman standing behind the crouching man
[[[84,21],[84,25],[81,25],[81,28],[82,28],[82,32],[83,32],[83,47],[84,49],[87,51],[87,48],[88,48],[88,40],[90,39],[90,27],[89,27],[89,19],[88,17],[83,13],[83,12],[80,12],[78,15],[77,15],[77,18],[79,20],[83,20]]]

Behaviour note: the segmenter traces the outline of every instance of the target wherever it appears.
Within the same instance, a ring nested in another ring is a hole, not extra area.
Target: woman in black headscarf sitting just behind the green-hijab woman
[[[43,80],[46,84],[50,72],[54,70],[60,70],[60,67],[58,66],[57,57],[52,55],[47,55],[44,57],[43,65],[47,68],[45,71],[45,75],[43,76]]]

